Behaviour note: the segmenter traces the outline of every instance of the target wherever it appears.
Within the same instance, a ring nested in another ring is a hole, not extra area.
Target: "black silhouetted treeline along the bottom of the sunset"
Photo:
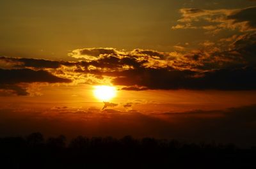
[[[0,138],[0,168],[256,168],[256,148],[155,138],[65,136],[41,133]]]

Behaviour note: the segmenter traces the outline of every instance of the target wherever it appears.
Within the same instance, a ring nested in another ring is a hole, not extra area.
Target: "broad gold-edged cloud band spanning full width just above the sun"
[[[205,11],[186,11],[186,15],[195,13]],[[255,44],[256,34],[244,33],[214,42],[205,40],[199,49],[180,52],[83,48],[81,57],[87,54],[95,58],[73,62],[0,57],[3,65],[9,63],[1,70],[1,89],[13,91],[13,85],[19,84],[18,92],[20,83],[72,80],[74,84],[120,85],[127,91],[255,90]],[[22,90],[19,93],[26,94]]]

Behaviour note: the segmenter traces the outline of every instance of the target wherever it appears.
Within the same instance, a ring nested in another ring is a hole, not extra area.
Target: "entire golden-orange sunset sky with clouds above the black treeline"
[[[253,0],[3,0],[0,136],[255,144],[255,14]]]

